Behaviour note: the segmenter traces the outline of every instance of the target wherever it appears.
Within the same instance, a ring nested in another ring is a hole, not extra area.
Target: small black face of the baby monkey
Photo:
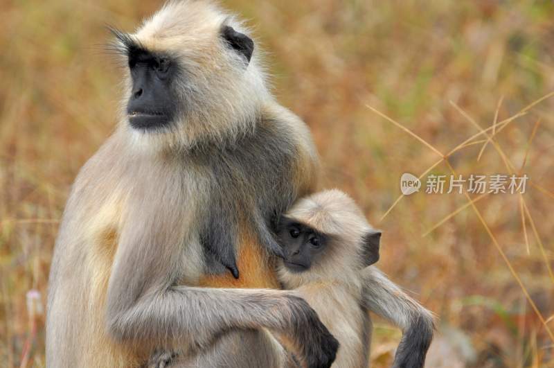
[[[287,270],[304,272],[328,245],[328,237],[319,234],[301,223],[284,220],[278,229],[278,238],[283,247],[283,261]]]

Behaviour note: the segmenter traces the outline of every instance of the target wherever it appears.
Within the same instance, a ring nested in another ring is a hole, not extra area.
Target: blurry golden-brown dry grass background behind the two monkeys
[[[44,366],[44,316],[26,294],[37,290],[44,306],[69,186],[114,128],[119,72],[98,46],[109,40],[104,26],[132,30],[160,3],[0,3],[3,367]],[[427,366],[552,366],[553,1],[224,3],[270,51],[276,94],[312,128],[326,186],[351,193],[383,229],[380,267],[440,317]],[[492,126],[495,112],[517,119],[495,129],[479,161],[483,143],[445,161],[366,105],[441,155]],[[465,195],[417,193],[388,211],[402,173],[438,161],[431,173],[521,171],[533,185],[474,206]],[[386,367],[400,332],[377,321],[374,336],[374,367]]]

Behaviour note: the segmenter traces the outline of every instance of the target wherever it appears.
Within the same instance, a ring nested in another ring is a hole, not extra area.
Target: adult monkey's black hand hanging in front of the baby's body
[[[339,342],[319,320],[315,310],[301,297],[291,296],[292,318],[298,349],[308,368],[329,368],[337,356]]]

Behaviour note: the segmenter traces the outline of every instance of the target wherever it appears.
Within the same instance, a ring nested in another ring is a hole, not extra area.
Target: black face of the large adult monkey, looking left
[[[177,69],[165,55],[129,50],[132,92],[127,103],[129,123],[136,129],[161,128],[175,117],[177,103],[170,82]]]

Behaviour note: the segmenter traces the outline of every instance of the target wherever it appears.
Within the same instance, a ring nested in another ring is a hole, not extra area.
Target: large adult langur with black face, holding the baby
[[[114,34],[127,64],[122,116],[66,204],[47,366],[139,367],[160,349],[219,346],[215,358],[235,354],[237,367],[280,367],[289,358],[275,335],[301,365],[329,367],[337,340],[296,292],[270,289],[271,224],[314,191],[319,170],[248,30],[211,1],[182,0]]]

